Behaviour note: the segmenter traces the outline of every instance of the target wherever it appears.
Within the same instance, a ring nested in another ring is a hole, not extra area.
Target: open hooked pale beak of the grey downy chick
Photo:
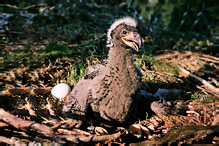
[[[122,37],[123,42],[137,52],[141,47],[141,37],[137,32],[130,32],[127,36]]]

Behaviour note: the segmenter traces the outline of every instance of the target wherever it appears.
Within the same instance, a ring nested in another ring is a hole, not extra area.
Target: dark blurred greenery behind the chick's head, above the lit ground
[[[218,39],[218,6],[217,0],[4,0],[0,43],[84,44],[97,39],[100,45],[114,19],[132,16],[141,35],[151,36],[159,49],[180,43],[209,46]]]

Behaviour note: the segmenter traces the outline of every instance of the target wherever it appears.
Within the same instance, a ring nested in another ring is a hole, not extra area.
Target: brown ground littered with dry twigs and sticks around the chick
[[[137,56],[135,62],[143,75],[142,90],[152,94],[158,89],[182,91],[174,102],[186,107],[184,114],[146,114],[145,120],[129,128],[103,124],[77,129],[74,120],[66,124],[60,114],[62,104],[50,94],[57,83],[76,82],[72,78],[75,60],[60,57],[51,61],[44,58],[44,48],[30,46],[28,54],[19,45],[3,47],[7,61],[0,76],[1,143],[219,143],[219,58],[185,50]],[[80,71],[76,69],[79,74]]]

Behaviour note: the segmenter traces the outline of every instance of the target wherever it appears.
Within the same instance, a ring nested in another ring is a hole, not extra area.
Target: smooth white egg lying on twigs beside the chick
[[[52,88],[51,94],[59,100],[64,100],[71,93],[71,88],[65,83],[58,84]]]

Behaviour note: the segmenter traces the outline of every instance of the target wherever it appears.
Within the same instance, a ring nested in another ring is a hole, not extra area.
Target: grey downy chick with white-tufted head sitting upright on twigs
[[[141,76],[132,59],[132,49],[141,46],[136,21],[131,17],[116,20],[108,30],[112,43],[106,64],[89,69],[66,98],[63,112],[86,121],[127,123],[136,115]],[[134,119],[133,119],[134,120]]]

